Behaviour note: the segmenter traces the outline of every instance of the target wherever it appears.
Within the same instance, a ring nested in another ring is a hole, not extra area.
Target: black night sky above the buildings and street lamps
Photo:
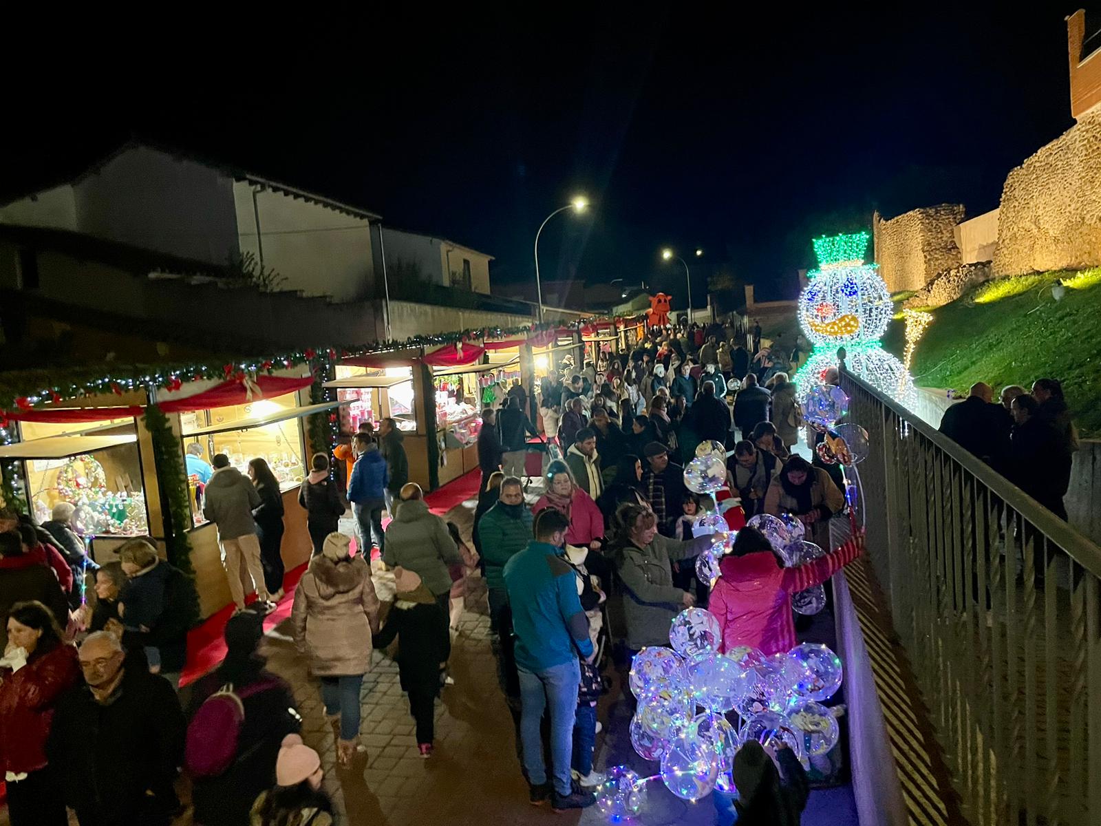
[[[658,249],[700,246],[770,297],[794,293],[813,235],[870,228],[874,208],[998,206],[1010,169],[1072,124],[1075,3],[729,6],[424,6],[36,42],[9,55],[0,191],[144,135],[489,252],[494,284],[532,278],[535,229],[585,192],[591,217],[544,231],[544,279],[676,292]]]

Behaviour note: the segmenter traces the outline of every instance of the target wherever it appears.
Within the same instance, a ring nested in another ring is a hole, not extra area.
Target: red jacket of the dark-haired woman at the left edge
[[[14,673],[0,669],[0,772],[31,772],[46,764],[54,707],[79,678],[73,645],[32,657]]]

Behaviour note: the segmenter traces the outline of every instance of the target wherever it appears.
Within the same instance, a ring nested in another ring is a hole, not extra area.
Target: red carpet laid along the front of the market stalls
[[[428,503],[429,510],[442,517],[457,504],[476,498],[480,485],[481,470],[471,470],[469,474],[465,474],[458,479],[448,482],[439,490],[426,493],[424,499]],[[355,545],[356,541],[353,539],[353,552]],[[299,565],[294,570],[286,573],[286,576],[283,578],[283,590],[286,591],[286,596],[280,600],[279,607],[264,618],[264,631],[270,631],[291,616],[291,607],[294,602],[294,589],[305,570],[306,566]],[[187,685],[198,680],[222,661],[226,656],[226,641],[224,639],[226,622],[229,621],[232,615],[233,606],[228,605],[207,617],[200,626],[188,632],[187,665],[179,676],[179,685]]]

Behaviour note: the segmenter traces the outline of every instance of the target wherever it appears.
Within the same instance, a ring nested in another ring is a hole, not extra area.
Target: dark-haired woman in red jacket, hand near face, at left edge
[[[0,772],[12,826],[66,826],[68,815],[46,762],[46,738],[57,699],[80,677],[76,649],[42,602],[17,602],[6,618],[0,659]],[[65,767],[73,771],[73,767]]]

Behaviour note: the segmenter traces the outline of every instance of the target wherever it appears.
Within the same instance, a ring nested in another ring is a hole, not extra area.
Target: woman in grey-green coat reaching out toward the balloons
[[[657,533],[654,512],[637,504],[621,506],[622,525],[612,558],[623,588],[626,646],[668,645],[669,623],[696,598],[673,584],[671,563],[697,556],[711,545],[710,535],[682,542]]]

